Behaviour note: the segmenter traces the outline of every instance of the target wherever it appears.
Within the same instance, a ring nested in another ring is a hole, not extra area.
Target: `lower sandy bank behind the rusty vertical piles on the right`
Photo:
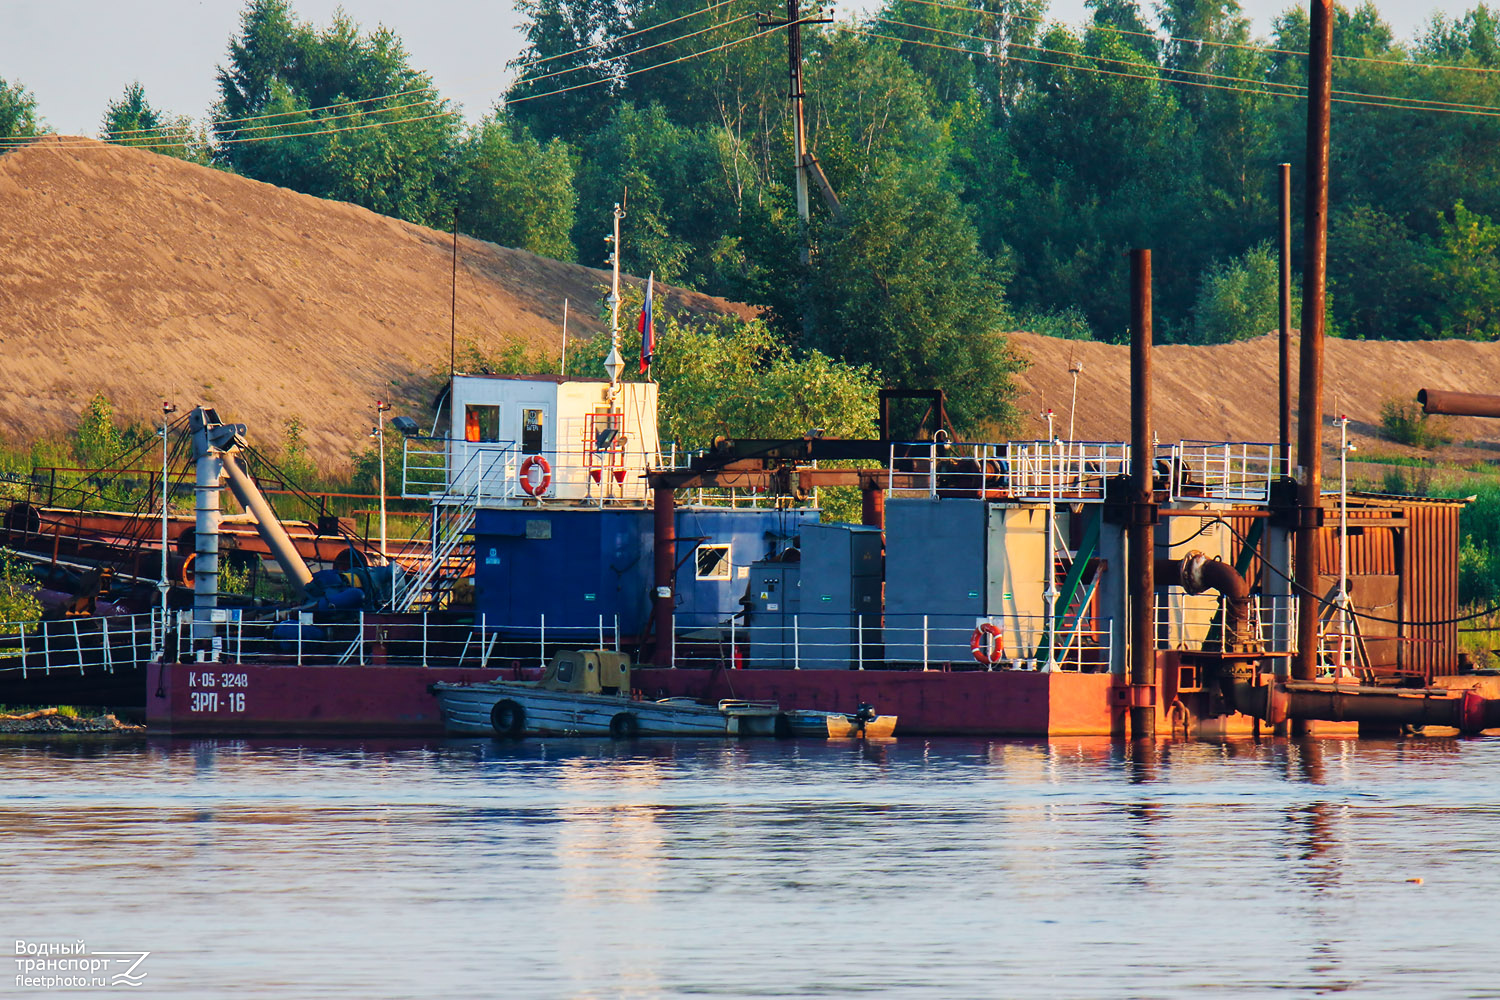
[[[1047,435],[1038,417],[1052,408],[1059,435],[1068,429],[1072,394],[1071,361],[1082,361],[1074,436],[1084,441],[1130,439],[1130,348],[1083,340],[1058,340],[1030,333],[1011,342],[1032,361],[1018,382],[1028,433]],[[1292,343],[1296,379],[1298,342]],[[1275,334],[1216,346],[1158,346],[1152,351],[1152,414],[1161,441],[1276,441],[1278,337]],[[1350,435],[1366,453],[1412,453],[1382,441],[1386,400],[1414,402],[1419,388],[1500,393],[1500,343],[1467,340],[1335,340],[1323,357],[1323,409],[1328,420],[1348,415]],[[1296,385],[1292,390],[1296,441]],[[1500,420],[1449,417],[1456,445],[1448,459],[1494,459],[1500,450]],[[1336,457],[1336,429],[1324,427],[1326,454]],[[1478,451],[1474,451],[1478,450]],[[1466,454],[1467,453],[1467,454]]]

